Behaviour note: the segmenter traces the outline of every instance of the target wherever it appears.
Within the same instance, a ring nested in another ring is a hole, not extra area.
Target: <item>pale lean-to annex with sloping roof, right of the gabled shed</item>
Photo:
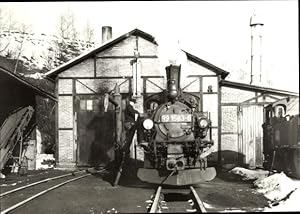
[[[262,167],[264,108],[299,93],[222,80],[221,164]]]

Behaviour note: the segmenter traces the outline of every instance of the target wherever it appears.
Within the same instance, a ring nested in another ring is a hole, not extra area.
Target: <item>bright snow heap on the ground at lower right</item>
[[[265,207],[263,211],[300,211],[300,180],[291,179],[283,172],[268,176],[268,171],[241,167],[235,167],[230,172],[242,176],[244,180],[255,180],[255,192],[269,199],[270,207]]]

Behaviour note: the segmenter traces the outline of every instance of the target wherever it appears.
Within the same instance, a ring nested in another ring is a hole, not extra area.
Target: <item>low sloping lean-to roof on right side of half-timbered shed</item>
[[[280,89],[250,85],[250,84],[239,83],[239,82],[232,82],[232,81],[228,81],[228,80],[221,80],[220,85],[231,87],[231,88],[236,88],[236,89],[241,89],[241,90],[248,90],[248,91],[260,92],[260,93],[268,93],[268,94],[273,94],[273,95],[299,96],[299,93],[297,93],[297,92],[284,91],[284,90],[280,90]]]

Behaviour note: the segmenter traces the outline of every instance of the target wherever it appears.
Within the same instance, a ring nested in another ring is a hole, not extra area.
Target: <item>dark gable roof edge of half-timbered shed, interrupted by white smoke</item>
[[[126,38],[128,38],[132,35],[140,36],[140,37],[152,42],[153,44],[158,45],[153,36],[151,36],[150,34],[145,33],[144,31],[141,31],[141,30],[136,28],[136,29],[134,29],[134,30],[132,30],[132,31],[126,33],[126,34],[123,34],[122,36],[120,36],[120,37],[118,37],[114,40],[110,40],[110,41],[102,44],[100,47],[92,49],[87,53],[83,53],[83,54],[79,55],[78,57],[75,57],[74,59],[62,64],[61,66],[59,66],[57,68],[54,68],[53,70],[45,73],[45,75],[47,77],[50,77],[50,78],[55,78],[55,76],[57,74],[59,74],[60,72],[63,72],[64,70],[66,70],[66,69],[82,62],[83,60],[93,56],[94,54],[97,54],[101,51],[104,51],[105,49],[117,44],[118,42],[120,42],[120,41],[122,41],[122,40],[124,40],[124,39],[126,39]],[[200,59],[200,58],[184,51],[184,50],[182,50],[182,51],[186,53],[187,58],[189,60],[191,60],[191,61],[193,61],[193,62],[195,62],[195,63],[197,63],[197,64],[199,64],[199,65],[201,65],[205,68],[208,68],[208,69],[212,70],[213,72],[215,72],[218,75],[221,75],[222,79],[224,79],[229,74],[229,72],[224,71],[224,70],[222,70],[221,68],[218,68],[215,65],[212,65],[212,64],[210,64],[210,63],[208,63],[208,62],[206,62],[206,61],[204,61],[204,60],[202,60],[202,59]]]

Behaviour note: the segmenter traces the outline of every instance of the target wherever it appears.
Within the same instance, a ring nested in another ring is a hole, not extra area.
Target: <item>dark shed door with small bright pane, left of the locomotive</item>
[[[99,95],[76,96],[77,165],[106,165],[114,159],[113,112],[103,112]]]

